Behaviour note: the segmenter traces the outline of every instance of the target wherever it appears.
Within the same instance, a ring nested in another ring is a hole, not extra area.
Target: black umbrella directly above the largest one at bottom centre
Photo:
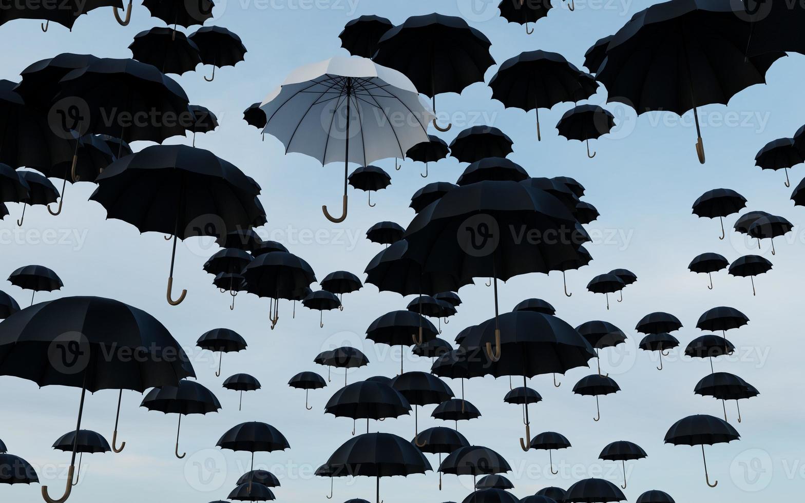
[[[382,421],[411,414],[411,405],[390,385],[377,381],[357,381],[332,394],[324,406],[324,414],[351,418],[355,435],[356,419],[366,419],[366,433],[369,433],[369,419]]]

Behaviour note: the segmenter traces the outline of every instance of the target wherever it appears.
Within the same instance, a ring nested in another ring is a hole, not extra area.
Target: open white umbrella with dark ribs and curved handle
[[[403,73],[361,57],[336,57],[297,68],[263,100],[268,133],[285,151],[310,155],[323,165],[344,161],[347,216],[347,166],[405,157],[411,146],[427,142],[434,118]]]

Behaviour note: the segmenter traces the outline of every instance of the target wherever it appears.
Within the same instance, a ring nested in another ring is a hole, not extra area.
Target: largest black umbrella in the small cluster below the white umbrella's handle
[[[279,321],[279,299],[295,299],[299,291],[316,281],[308,262],[283,251],[259,255],[242,274],[246,291],[270,299],[268,313],[272,330]]]

